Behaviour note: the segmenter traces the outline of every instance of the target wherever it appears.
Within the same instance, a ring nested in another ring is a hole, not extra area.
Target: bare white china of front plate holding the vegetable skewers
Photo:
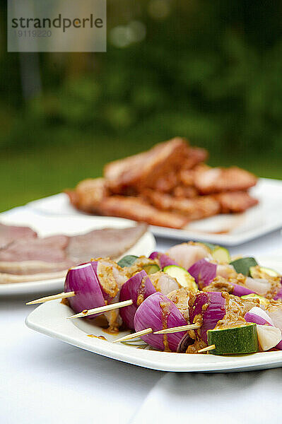
[[[260,264],[282,272],[279,258],[264,261]],[[53,300],[37,307],[25,320],[25,324],[42,334],[58,338],[78,348],[122,362],[151,368],[152,370],[173,372],[237,372],[249,370],[265,370],[282,366],[282,351],[262,352],[251,355],[217,356],[217,355],[185,355],[183,353],[165,353],[147,351],[122,343],[112,343],[114,338],[128,334],[124,331],[118,336],[104,332],[100,326],[85,319],[66,319],[74,312],[59,300]],[[89,337],[92,334],[96,337]],[[107,340],[101,340],[104,336]]]

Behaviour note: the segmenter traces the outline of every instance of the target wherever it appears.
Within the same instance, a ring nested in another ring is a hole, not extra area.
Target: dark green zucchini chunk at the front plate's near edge
[[[207,331],[208,345],[215,345],[213,355],[240,355],[259,351],[257,324]]]

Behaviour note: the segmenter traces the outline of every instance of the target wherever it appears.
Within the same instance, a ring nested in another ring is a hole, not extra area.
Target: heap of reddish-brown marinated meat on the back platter
[[[180,137],[105,166],[104,176],[68,190],[81,211],[184,228],[191,220],[240,213],[258,203],[247,190],[257,177],[238,167],[211,168],[205,149]]]

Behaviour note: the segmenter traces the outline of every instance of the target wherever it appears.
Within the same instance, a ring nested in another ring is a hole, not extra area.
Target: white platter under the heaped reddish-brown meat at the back
[[[174,240],[198,240],[236,246],[282,228],[282,181],[261,178],[250,193],[259,199],[259,205],[245,213],[196,220],[187,225],[185,230],[152,225],[151,231],[159,237]],[[63,193],[33,201],[28,206],[41,213],[82,215],[69,204],[68,196]]]

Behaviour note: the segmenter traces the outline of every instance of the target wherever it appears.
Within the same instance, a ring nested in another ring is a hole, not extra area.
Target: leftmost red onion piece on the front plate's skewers
[[[66,274],[64,291],[76,293],[73,298],[68,299],[71,309],[75,312],[105,305],[98,278],[90,263],[69,269]]]

